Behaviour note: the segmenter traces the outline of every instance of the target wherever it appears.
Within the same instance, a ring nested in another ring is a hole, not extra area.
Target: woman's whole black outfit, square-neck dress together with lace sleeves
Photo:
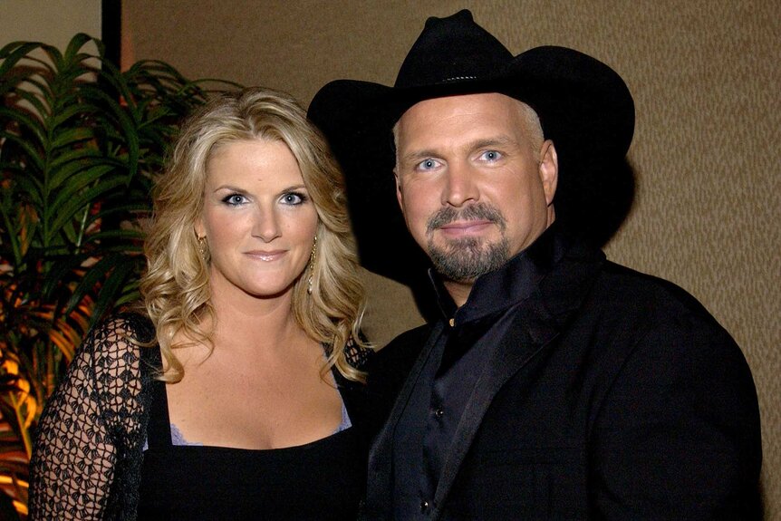
[[[154,336],[149,318],[119,314],[76,351],[35,429],[31,521],[354,516],[371,439],[364,385],[332,371],[352,427],[302,447],[167,447],[168,412],[151,411],[167,403],[160,352],[142,347]],[[354,343],[344,354],[356,369],[371,358]]]

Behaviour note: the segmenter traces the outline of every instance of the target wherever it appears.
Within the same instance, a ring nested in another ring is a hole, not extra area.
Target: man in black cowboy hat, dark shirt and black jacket
[[[394,87],[332,82],[310,117],[366,198],[359,242],[393,237],[375,189],[393,169],[436,272],[439,318],[370,371],[387,421],[366,518],[761,516],[738,346],[677,286],[606,261],[580,222],[576,192],[625,172],[632,140],[612,69],[560,47],[513,57],[462,11],[429,19]]]

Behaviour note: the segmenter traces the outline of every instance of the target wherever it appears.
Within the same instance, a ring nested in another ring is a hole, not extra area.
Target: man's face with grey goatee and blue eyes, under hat
[[[448,281],[471,285],[554,221],[554,146],[526,111],[487,93],[420,101],[401,116],[396,194],[410,233]]]

